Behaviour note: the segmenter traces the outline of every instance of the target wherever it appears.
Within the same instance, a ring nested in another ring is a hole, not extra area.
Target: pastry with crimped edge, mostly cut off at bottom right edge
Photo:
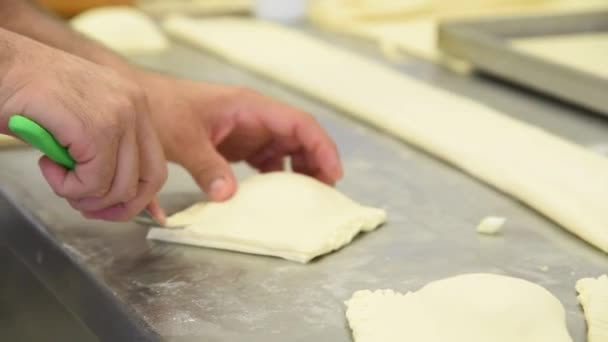
[[[608,341],[608,275],[576,282],[578,301],[585,310],[587,342]]]

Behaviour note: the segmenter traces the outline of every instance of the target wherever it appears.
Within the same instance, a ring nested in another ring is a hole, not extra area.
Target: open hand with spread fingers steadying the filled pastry
[[[167,159],[185,167],[214,201],[237,182],[230,162],[261,172],[294,171],[333,185],[342,165],[333,140],[309,114],[252,90],[140,74]]]

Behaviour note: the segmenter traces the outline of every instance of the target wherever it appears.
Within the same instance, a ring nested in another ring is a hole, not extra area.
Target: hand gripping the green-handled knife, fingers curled
[[[111,69],[14,38],[14,58],[0,78],[0,133],[10,134],[10,116],[21,114],[67,146],[74,170],[46,157],[40,169],[85,217],[124,221],[148,205],[157,211],[167,165],[142,89]]]

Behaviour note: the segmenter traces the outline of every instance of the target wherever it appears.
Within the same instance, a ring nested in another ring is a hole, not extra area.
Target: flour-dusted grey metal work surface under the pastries
[[[134,223],[80,218],[48,189],[37,153],[0,152],[0,186],[48,224],[67,253],[164,339],[350,341],[343,302],[355,290],[416,290],[461,273],[493,272],[548,288],[566,306],[575,341],[585,341],[574,284],[606,273],[607,255],[441,161],[217,59],[175,46],[164,56],[138,61],[183,77],[250,86],[313,113],[340,147],[346,176],[339,189],[389,213],[376,232],[308,265],[157,243],[146,241],[146,228]],[[398,69],[598,151],[608,146],[608,122],[582,110],[420,62]],[[236,169],[240,178],[252,172]],[[187,174],[171,168],[161,195],[169,211],[201,197]],[[508,218],[504,235],[476,233],[487,215]]]

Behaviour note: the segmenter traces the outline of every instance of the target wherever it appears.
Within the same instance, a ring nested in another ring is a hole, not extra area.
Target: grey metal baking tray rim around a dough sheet
[[[516,38],[608,32],[608,11],[446,21],[439,48],[480,71],[608,116],[608,79],[515,50]],[[607,58],[608,63],[608,58]]]

